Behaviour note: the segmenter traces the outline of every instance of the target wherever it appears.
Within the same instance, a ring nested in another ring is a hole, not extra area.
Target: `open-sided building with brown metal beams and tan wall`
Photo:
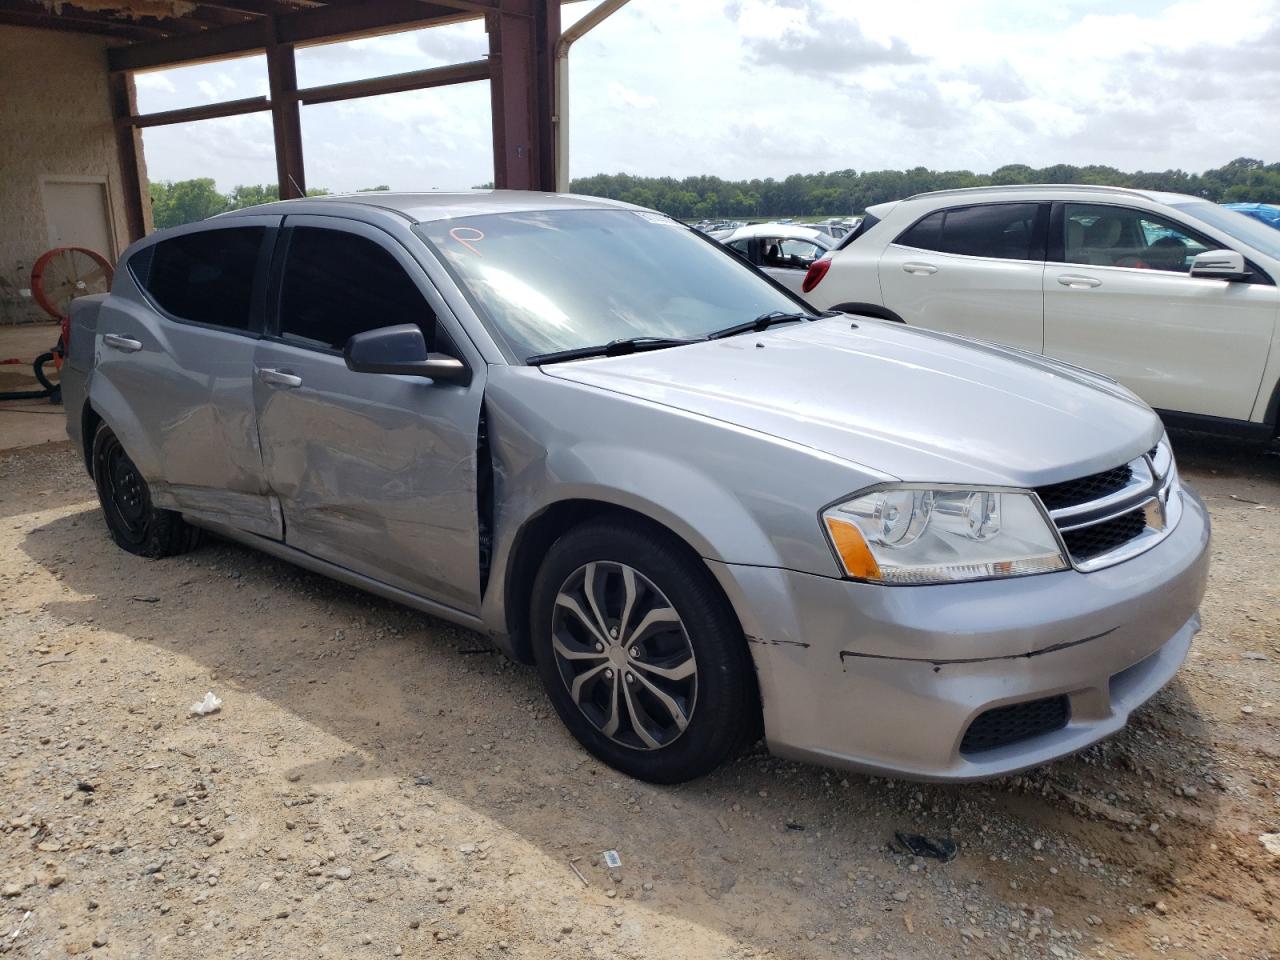
[[[484,59],[298,88],[298,46],[479,18]],[[114,261],[151,228],[145,127],[269,111],[287,198],[307,183],[303,105],[486,81],[495,184],[554,189],[557,44],[571,40],[559,0],[0,0],[0,321],[28,308],[18,293],[60,232]],[[246,54],[265,54],[268,96],[138,113],[136,72]]]

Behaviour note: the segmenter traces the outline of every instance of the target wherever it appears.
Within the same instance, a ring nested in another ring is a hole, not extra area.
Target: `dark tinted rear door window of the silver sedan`
[[[140,250],[129,270],[147,296],[179,320],[247,330],[265,234],[265,227],[184,233]]]

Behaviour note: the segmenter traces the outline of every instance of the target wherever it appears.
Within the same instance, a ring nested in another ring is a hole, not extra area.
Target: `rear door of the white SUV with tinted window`
[[[884,248],[884,306],[913,326],[1039,353],[1047,204],[938,210]]]

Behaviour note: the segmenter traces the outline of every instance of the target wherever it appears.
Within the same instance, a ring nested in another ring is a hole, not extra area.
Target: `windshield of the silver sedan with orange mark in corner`
[[[413,228],[521,361],[634,337],[696,338],[803,305],[660,214],[543,210]]]

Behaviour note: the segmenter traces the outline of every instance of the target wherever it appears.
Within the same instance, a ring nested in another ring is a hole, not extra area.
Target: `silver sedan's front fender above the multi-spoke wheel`
[[[838,576],[818,512],[882,479],[780,438],[531,367],[493,367],[485,410],[494,524],[484,618],[499,636],[512,628],[508,596],[522,596],[508,582],[527,575],[513,571],[524,563],[516,544],[557,504],[639,513],[709,561]]]

